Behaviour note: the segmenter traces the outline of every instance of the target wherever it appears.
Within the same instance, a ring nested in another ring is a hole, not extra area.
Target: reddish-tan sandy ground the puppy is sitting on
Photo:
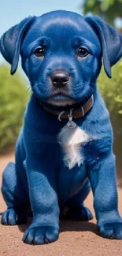
[[[0,158],[0,174],[13,154]],[[119,192],[119,209],[122,216],[122,190]],[[86,200],[92,212],[92,195]],[[0,195],[0,214],[6,210],[6,204]],[[90,222],[61,221],[61,232],[55,243],[43,246],[30,246],[22,242],[24,230],[28,224],[20,226],[0,225],[0,256],[121,256],[122,240],[103,239],[98,236],[95,217]]]

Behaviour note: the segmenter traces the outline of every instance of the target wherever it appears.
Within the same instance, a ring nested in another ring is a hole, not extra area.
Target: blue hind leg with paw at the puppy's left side
[[[2,213],[2,224],[24,224],[27,220],[28,196],[13,162],[9,162],[2,174],[2,195],[8,206]]]

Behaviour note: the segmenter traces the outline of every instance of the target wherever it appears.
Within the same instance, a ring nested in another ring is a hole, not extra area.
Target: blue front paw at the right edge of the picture
[[[122,221],[102,224],[99,227],[99,234],[104,238],[122,239]]]

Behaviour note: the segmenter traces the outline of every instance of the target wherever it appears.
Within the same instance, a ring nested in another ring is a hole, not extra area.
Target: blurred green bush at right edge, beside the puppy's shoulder
[[[98,87],[109,109],[113,124],[114,153],[118,177],[122,178],[122,61],[113,66],[112,79],[102,69],[98,77]]]

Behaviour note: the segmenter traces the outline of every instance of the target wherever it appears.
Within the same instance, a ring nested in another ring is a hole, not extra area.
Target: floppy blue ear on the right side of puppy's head
[[[122,35],[98,16],[85,17],[102,46],[105,72],[111,78],[111,67],[122,57]]]

